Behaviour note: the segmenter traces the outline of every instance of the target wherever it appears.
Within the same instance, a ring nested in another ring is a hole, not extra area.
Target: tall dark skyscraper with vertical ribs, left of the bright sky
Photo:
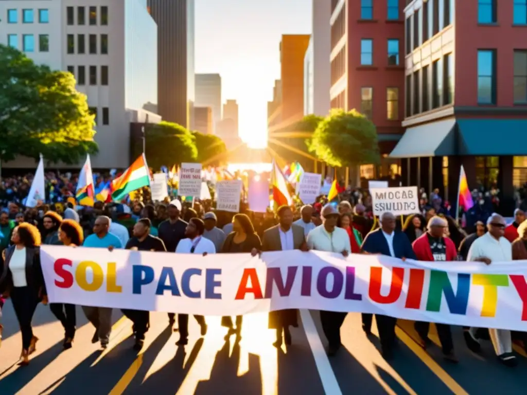
[[[158,25],[158,112],[193,129],[194,0],[148,0]]]

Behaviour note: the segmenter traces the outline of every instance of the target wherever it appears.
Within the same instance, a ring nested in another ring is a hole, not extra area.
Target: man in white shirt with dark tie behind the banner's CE
[[[175,248],[176,253],[181,254],[207,254],[216,253],[214,243],[209,239],[203,237],[205,231],[205,224],[199,218],[192,218],[185,229],[185,235],[187,239],[183,239],[178,243]],[[207,324],[205,323],[205,317],[203,315],[194,315],[196,321],[198,321],[201,327],[201,335],[207,334]],[[179,340],[175,343],[177,345],[186,345],[189,340],[189,315],[178,314],[178,327],[179,327]]]

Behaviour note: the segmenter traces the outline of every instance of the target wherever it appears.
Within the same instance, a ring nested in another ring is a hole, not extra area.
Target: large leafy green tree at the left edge
[[[17,155],[77,163],[97,153],[94,115],[70,73],[0,45],[0,160]]]

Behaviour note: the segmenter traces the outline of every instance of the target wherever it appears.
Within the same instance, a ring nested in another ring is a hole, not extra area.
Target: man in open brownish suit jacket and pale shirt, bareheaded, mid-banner
[[[262,251],[307,251],[304,228],[293,224],[293,212],[289,206],[281,206],[277,210],[278,225],[264,232]],[[279,310],[269,313],[269,328],[276,330],[275,347],[282,345],[282,331],[287,345],[291,344],[289,327],[298,327],[297,310]]]

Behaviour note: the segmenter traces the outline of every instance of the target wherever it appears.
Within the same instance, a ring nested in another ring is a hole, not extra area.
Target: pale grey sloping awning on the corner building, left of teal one
[[[408,127],[395,149],[393,158],[455,155],[455,118]]]

